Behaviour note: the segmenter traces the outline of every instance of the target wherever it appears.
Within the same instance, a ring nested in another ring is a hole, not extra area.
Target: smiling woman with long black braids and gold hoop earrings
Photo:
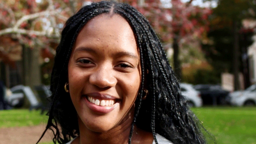
[[[206,143],[160,40],[130,5],[92,3],[69,18],[51,92],[54,143]]]

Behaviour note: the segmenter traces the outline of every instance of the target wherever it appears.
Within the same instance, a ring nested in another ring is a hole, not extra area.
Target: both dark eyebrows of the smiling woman
[[[74,52],[79,52],[79,51],[86,51],[86,52],[92,52],[94,54],[97,54],[97,51],[95,51],[95,49],[88,48],[88,47],[79,47],[79,48],[76,48],[74,50]],[[131,58],[134,58],[134,59],[139,59],[139,57],[137,55],[135,55],[132,52],[128,52],[128,51],[117,52],[117,53],[113,54],[112,56],[114,56],[114,57],[126,56],[126,57],[131,57]]]

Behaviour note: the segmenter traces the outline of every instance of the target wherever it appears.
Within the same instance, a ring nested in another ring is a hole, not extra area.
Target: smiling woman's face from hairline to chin
[[[109,14],[90,20],[78,34],[68,63],[79,126],[104,132],[131,122],[140,80],[139,51],[127,21]]]

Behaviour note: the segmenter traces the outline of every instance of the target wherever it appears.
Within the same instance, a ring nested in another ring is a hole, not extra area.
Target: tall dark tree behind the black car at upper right
[[[252,17],[253,13],[255,17],[253,1],[218,0],[218,6],[213,9],[211,15],[208,35],[212,43],[204,47],[208,60],[219,73],[233,72],[235,90],[240,89],[238,74],[241,71],[241,46],[239,46],[243,33],[241,21],[244,18]]]

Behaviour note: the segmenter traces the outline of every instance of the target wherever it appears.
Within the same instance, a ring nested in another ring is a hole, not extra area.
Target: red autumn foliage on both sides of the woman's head
[[[37,45],[54,49],[50,43],[58,43],[61,26],[83,5],[84,1],[89,0],[42,0],[41,3],[36,3],[35,0],[2,0],[0,2],[3,3],[0,7],[0,36],[9,34],[13,39],[19,39],[20,43],[27,46]],[[183,43],[189,44],[195,39],[200,40],[205,37],[203,34],[208,30],[207,19],[211,14],[208,8],[192,6],[181,0],[172,0],[172,7],[164,7],[160,0],[145,0],[143,5],[140,5],[137,0],[122,0],[122,2],[130,3],[145,15],[164,44],[172,43],[174,36],[178,36],[179,40],[183,39]],[[55,14],[39,14],[46,11],[55,12]],[[32,17],[35,14],[39,15]],[[29,18],[26,19],[26,17]],[[26,20],[18,24],[22,18]],[[10,29],[14,27],[20,29],[16,31]],[[3,31],[8,28],[12,31],[8,33]]]

